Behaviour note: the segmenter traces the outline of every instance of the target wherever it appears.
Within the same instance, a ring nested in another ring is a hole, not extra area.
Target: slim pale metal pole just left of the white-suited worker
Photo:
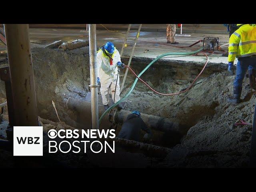
[[[98,81],[97,81],[97,53],[96,53],[96,24],[89,24],[90,50],[90,90],[92,109],[92,129],[99,128],[98,111]]]

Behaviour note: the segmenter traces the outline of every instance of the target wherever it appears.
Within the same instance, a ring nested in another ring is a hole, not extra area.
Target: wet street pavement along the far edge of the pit
[[[127,47],[124,48],[123,56],[130,56],[136,31],[130,31]],[[228,43],[228,34],[200,34],[200,33],[186,33],[191,36],[177,36],[176,41],[178,46],[190,46],[191,44],[202,40],[204,37],[218,37],[219,45]],[[97,30],[97,47],[107,41],[112,41],[116,48],[121,51],[126,31],[118,30]],[[63,40],[64,42],[76,39],[88,39],[88,31],[80,29],[50,29],[50,28],[30,28],[30,42],[40,45],[50,44],[56,40]],[[202,42],[195,46],[188,48],[178,48],[166,44],[166,32],[146,32],[141,31],[134,50],[134,57],[156,58],[157,56],[167,52],[190,52],[198,50],[202,47]],[[5,50],[5,46],[0,44],[0,50]],[[227,46],[224,47],[227,50]],[[198,61],[204,62],[205,56],[167,56],[166,59],[182,60],[182,61]],[[213,63],[227,63],[227,57],[222,57],[222,54],[212,54],[209,56],[210,62]]]

